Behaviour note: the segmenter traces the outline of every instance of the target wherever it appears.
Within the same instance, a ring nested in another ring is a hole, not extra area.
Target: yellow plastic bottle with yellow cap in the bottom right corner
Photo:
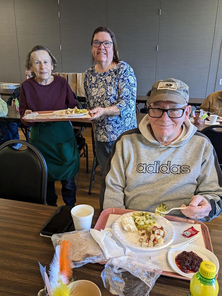
[[[217,296],[218,281],[215,278],[216,266],[210,261],[202,261],[190,281],[190,293],[187,296]]]

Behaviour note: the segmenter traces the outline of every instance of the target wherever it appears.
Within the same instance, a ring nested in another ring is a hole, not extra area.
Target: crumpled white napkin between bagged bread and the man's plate
[[[98,231],[91,228],[90,233],[99,247],[102,249],[103,255],[107,260],[111,257],[125,255],[123,248],[119,247],[115,240],[111,239],[111,237],[108,237],[105,231]]]

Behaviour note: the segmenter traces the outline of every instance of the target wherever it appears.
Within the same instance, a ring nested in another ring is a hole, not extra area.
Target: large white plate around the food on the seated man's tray
[[[142,247],[141,243],[139,242],[139,234],[132,233],[132,232],[130,233],[130,232],[126,231],[120,222],[121,217],[131,216],[132,213],[135,213],[135,212],[129,212],[129,213],[119,216],[112,224],[113,234],[120,242],[126,244],[128,247],[131,247],[133,249],[143,250],[143,251],[160,250],[160,249],[167,247],[169,244],[171,244],[173,242],[174,237],[175,237],[175,229],[174,229],[173,225],[170,223],[170,221],[168,221],[167,219],[165,219],[162,216],[159,216],[159,215],[156,216],[153,213],[150,213],[152,215],[152,217],[155,217],[157,219],[156,225],[159,227],[163,226],[164,230],[167,231],[167,235],[166,235],[166,237],[164,237],[164,243],[160,246]]]

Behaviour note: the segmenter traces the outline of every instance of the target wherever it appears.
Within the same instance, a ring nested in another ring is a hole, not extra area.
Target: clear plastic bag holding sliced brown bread
[[[54,249],[63,240],[68,240],[71,243],[72,268],[83,266],[86,263],[105,261],[102,250],[88,230],[53,234],[51,239]]]

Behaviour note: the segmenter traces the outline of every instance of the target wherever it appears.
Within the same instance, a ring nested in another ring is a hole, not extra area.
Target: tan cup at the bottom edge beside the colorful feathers
[[[70,295],[93,295],[101,296],[99,288],[92,281],[81,279],[79,281],[73,281],[68,285],[70,287]]]

